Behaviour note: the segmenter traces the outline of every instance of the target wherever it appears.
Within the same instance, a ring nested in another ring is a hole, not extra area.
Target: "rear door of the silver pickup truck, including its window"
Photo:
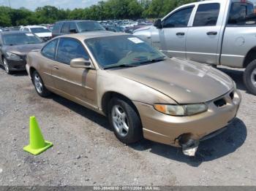
[[[221,7],[219,2],[206,2],[197,6],[195,19],[187,31],[188,60],[209,64],[217,63],[223,19],[219,17],[221,11],[224,12],[225,7]]]

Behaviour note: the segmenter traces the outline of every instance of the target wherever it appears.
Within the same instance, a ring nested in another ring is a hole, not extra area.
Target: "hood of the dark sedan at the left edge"
[[[26,55],[31,50],[38,50],[43,47],[44,43],[42,44],[20,44],[20,45],[14,45],[14,46],[7,46],[5,47],[5,50],[7,52],[12,52],[17,55]]]

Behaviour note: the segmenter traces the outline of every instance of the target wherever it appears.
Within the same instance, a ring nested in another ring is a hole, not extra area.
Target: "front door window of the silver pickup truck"
[[[178,10],[163,21],[163,28],[187,27],[194,7]]]

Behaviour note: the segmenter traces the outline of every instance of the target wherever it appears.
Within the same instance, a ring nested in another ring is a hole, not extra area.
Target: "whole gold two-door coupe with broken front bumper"
[[[59,36],[27,61],[39,95],[53,92],[104,114],[125,144],[144,137],[195,155],[199,140],[224,130],[241,102],[226,74],[166,58],[129,34]]]

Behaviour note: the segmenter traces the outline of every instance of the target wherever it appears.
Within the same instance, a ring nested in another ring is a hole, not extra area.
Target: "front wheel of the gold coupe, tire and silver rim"
[[[140,117],[131,101],[113,98],[108,105],[108,120],[122,143],[132,144],[143,139]]]

